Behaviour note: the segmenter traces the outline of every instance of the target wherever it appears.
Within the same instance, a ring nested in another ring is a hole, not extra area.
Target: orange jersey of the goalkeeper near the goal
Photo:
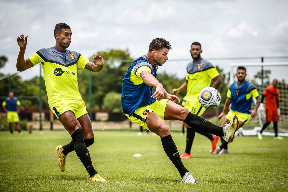
[[[265,109],[276,111],[277,110],[277,99],[279,98],[279,90],[274,88],[273,85],[269,85],[263,95],[266,96]]]

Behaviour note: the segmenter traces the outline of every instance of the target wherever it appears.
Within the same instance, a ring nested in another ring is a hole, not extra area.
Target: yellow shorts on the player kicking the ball
[[[164,120],[164,112],[168,101],[170,100],[169,99],[161,99],[160,101],[156,100],[152,104],[137,108],[131,116],[129,116],[128,114],[125,115],[128,117],[128,119],[130,119],[130,121],[138,123],[139,125],[144,127],[144,129],[149,130],[146,124],[147,116],[151,112],[155,112],[159,117],[161,117],[161,119]]]

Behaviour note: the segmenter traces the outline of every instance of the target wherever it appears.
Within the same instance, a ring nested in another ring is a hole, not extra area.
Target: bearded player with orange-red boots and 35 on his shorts
[[[178,89],[173,89],[173,94],[178,94],[179,92],[187,90],[187,94],[183,98],[183,100],[186,100],[184,107],[186,107],[191,113],[201,117],[206,109],[199,103],[198,96],[200,91],[205,87],[210,87],[211,80],[213,80],[211,87],[214,87],[215,89],[221,85],[222,81],[213,64],[201,58],[202,47],[200,43],[192,43],[190,53],[193,61],[187,65],[186,81]],[[191,157],[190,151],[195,137],[195,129],[187,125],[185,126],[187,128],[186,149],[180,156],[181,159]],[[216,149],[219,137],[202,131],[196,132],[211,140],[211,152],[213,152]]]

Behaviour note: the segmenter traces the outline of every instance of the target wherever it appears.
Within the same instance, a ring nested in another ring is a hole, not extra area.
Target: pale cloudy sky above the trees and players
[[[190,59],[194,41],[202,44],[203,58],[288,56],[285,0],[0,0],[0,6],[0,55],[9,60],[0,70],[4,74],[17,72],[20,34],[28,35],[25,58],[29,58],[55,45],[54,27],[59,22],[71,27],[68,49],[86,58],[111,48],[128,49],[138,58],[155,37],[172,45],[169,59]],[[177,70],[185,68],[183,64]],[[175,68],[167,71],[174,73]],[[38,74],[36,66],[20,76],[29,79]]]

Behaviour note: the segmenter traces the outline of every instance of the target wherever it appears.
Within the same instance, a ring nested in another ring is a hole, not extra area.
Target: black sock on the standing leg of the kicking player
[[[172,161],[174,166],[177,168],[179,171],[181,177],[185,175],[188,170],[184,167],[179,152],[177,150],[177,147],[172,139],[171,135],[167,135],[163,138],[161,138],[161,142],[163,145],[163,149],[166,153],[166,155],[169,157],[169,159]]]

